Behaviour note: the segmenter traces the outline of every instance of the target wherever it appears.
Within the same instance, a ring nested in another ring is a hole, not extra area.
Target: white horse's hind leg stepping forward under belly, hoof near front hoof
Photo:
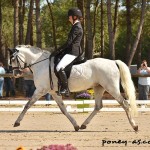
[[[80,129],[85,129],[86,125],[90,123],[92,118],[97,114],[97,112],[103,107],[102,96],[104,94],[104,88],[99,86],[94,87],[94,97],[95,97],[95,107],[93,112],[88,116],[88,118],[83,122]]]

